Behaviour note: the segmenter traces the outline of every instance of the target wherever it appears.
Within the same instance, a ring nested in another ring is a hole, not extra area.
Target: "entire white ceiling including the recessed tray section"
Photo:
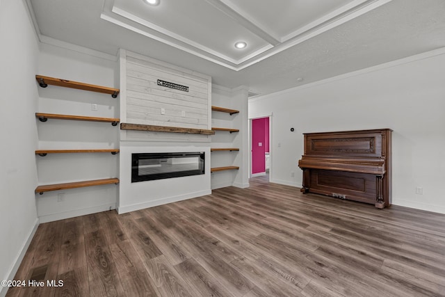
[[[29,3],[42,36],[129,49],[261,95],[445,47],[444,0]],[[240,40],[248,47],[235,49]]]

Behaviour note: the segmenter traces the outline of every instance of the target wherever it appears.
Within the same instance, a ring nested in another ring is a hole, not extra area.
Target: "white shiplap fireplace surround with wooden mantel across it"
[[[121,123],[211,130],[211,77],[126,50],[119,65]],[[210,194],[210,143],[205,134],[121,129],[118,213]],[[204,152],[205,173],[131,183],[131,154],[152,152]]]

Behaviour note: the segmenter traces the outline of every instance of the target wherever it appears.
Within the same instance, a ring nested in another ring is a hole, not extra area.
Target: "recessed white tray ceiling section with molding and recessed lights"
[[[149,6],[142,0],[105,0],[101,18],[242,70],[388,1],[161,0]],[[236,49],[238,41],[248,46]]]

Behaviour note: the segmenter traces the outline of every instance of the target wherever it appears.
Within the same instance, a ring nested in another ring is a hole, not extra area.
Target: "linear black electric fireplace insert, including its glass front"
[[[131,154],[131,182],[204,174],[204,152]]]

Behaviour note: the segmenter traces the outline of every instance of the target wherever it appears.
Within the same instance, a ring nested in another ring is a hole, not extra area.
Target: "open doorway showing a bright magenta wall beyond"
[[[250,120],[250,177],[270,179],[270,117]]]

